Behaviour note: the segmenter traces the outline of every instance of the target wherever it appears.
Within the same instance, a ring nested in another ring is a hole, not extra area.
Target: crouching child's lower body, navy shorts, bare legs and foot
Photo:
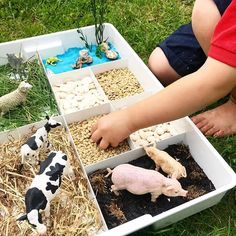
[[[164,86],[204,64],[214,29],[230,3],[231,0],[195,1],[192,24],[181,26],[152,52],[149,67]],[[236,105],[232,103],[236,97],[235,88],[231,94],[231,101],[223,106],[192,118],[205,135],[236,133],[236,128],[232,127],[236,115]]]

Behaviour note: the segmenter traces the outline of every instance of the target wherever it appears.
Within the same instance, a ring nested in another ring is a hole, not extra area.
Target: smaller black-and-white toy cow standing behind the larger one
[[[56,128],[61,125],[60,122],[53,120],[52,118],[47,118],[47,123],[39,128],[24,145],[21,146],[21,164],[23,165],[26,159],[30,159],[33,164],[38,160],[38,155],[41,149],[49,147],[48,133],[52,128]]]

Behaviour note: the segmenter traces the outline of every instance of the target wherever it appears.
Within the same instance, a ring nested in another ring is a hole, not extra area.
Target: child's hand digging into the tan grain
[[[116,111],[103,116],[92,127],[91,139],[106,149],[109,145],[117,147],[132,131],[131,117],[127,110]]]

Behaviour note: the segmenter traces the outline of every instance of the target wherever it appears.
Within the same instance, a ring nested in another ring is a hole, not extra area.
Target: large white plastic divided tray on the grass
[[[7,63],[7,59],[4,59],[6,58],[6,53],[18,54],[20,49],[22,50],[23,57],[25,59],[30,58],[34,54],[38,54],[42,60],[50,56],[64,53],[71,47],[81,47],[83,46],[83,42],[80,40],[76,30],[77,29],[72,29],[48,35],[1,43],[0,65]],[[95,43],[94,27],[88,26],[82,28],[82,30],[90,42]],[[71,122],[88,119],[94,115],[122,109],[126,106],[129,106],[130,104],[150,96],[151,94],[163,88],[160,82],[150,72],[147,66],[142,62],[142,60],[138,57],[138,55],[113,25],[105,24],[104,37],[108,37],[109,42],[111,42],[116,47],[122,58],[121,60],[104,63],[97,66],[91,66],[85,69],[65,72],[59,75],[51,75],[49,73],[47,74],[45,71],[50,84],[54,85],[55,83],[60,83],[69,77],[76,78],[77,76],[83,76],[87,74],[96,75],[97,73],[106,70],[128,67],[137,77],[139,83],[144,89],[144,92],[142,94],[126,97],[117,101],[107,101],[107,103],[94,108],[62,115],[58,119],[62,120],[65,126]],[[97,84],[97,86],[99,87],[99,84]],[[163,212],[155,217],[152,217],[151,215],[143,215],[142,217],[129,221],[111,230],[107,230],[103,216],[101,215],[101,219],[103,220],[105,227],[105,232],[103,233],[104,235],[126,235],[150,224],[154,224],[156,228],[164,227],[218,203],[224,194],[236,185],[234,171],[218,154],[218,152],[208,142],[204,135],[202,135],[201,132],[195,127],[192,121],[186,117],[179,119],[174,123],[175,128],[178,130],[179,134],[164,141],[158,142],[159,148],[164,149],[168,145],[178,142],[183,142],[188,145],[193,158],[204,170],[207,177],[212,181],[216,190]],[[39,125],[41,123],[37,124]],[[31,125],[28,125],[16,129],[12,134],[14,134],[14,136],[17,134],[23,134],[30,127]],[[8,134],[9,132],[0,133],[0,142],[6,141]],[[72,145],[75,147],[73,140]],[[131,149],[134,148],[132,143],[130,143],[130,147]],[[136,159],[142,154],[144,154],[142,148],[135,148],[129,152],[120,154],[119,156],[111,157],[101,162],[86,166],[85,168],[83,167],[83,170],[85,173],[89,174],[100,168],[115,167],[118,164]],[[79,158],[79,153],[77,153],[77,155]]]

